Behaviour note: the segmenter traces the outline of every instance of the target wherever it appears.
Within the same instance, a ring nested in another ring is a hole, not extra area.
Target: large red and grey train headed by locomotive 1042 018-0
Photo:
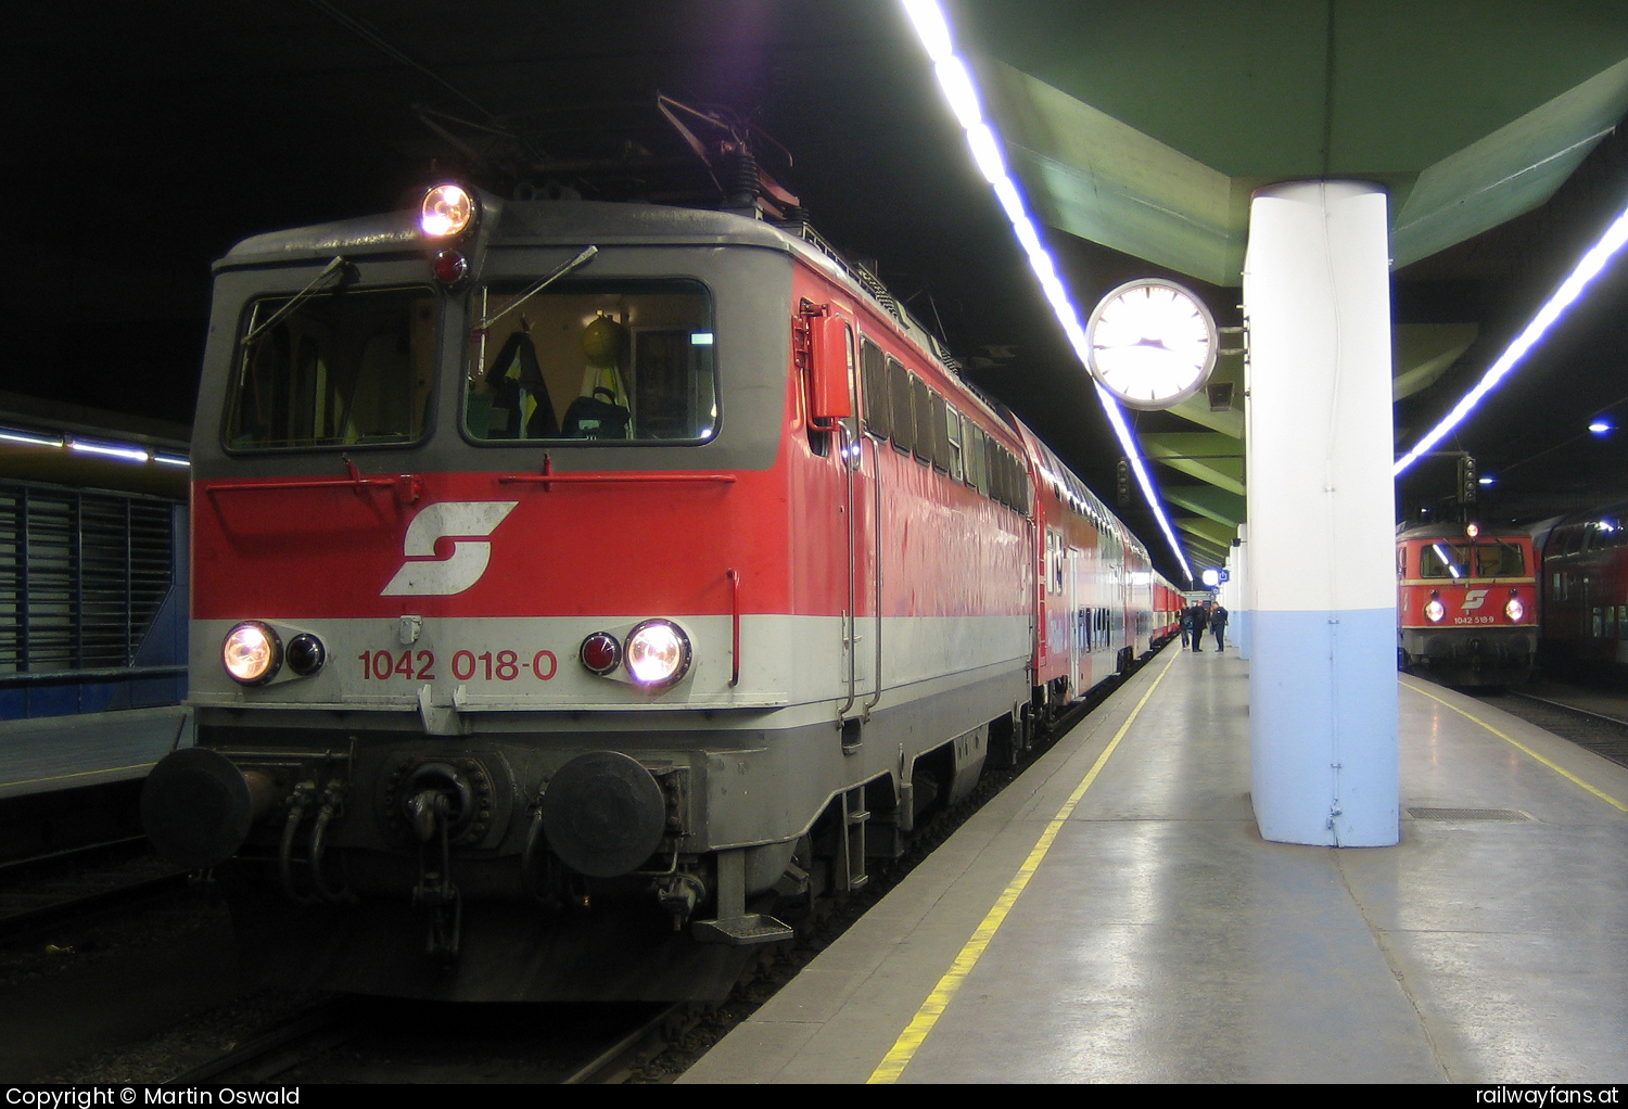
[[[1161,630],[1135,537],[759,212],[251,238],[199,412],[143,814],[332,988],[721,997]]]

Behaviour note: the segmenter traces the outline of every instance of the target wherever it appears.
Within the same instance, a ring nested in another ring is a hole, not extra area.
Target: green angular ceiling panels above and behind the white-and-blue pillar
[[[1262,184],[1384,184],[1405,265],[1542,205],[1628,114],[1628,0],[962,0],[951,18],[1039,220],[1221,287]],[[1398,327],[1398,397],[1475,334]],[[1167,490],[1210,560],[1242,518],[1242,420],[1203,397],[1177,414],[1205,430],[1146,453],[1226,493]]]

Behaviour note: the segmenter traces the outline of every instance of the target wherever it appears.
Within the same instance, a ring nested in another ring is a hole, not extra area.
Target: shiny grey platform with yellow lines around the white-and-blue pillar
[[[1260,839],[1172,645],[682,1083],[1617,1083],[1628,769],[1400,677],[1402,842]]]

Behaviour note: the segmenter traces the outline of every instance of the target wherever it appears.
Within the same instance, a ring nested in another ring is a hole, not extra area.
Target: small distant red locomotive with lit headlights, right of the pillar
[[[1397,664],[1452,686],[1509,686],[1537,664],[1537,562],[1524,533],[1397,533]]]

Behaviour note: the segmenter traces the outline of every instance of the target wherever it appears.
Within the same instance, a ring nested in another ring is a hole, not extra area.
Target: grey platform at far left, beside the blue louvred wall
[[[182,705],[0,721],[0,800],[145,778],[192,744]]]

